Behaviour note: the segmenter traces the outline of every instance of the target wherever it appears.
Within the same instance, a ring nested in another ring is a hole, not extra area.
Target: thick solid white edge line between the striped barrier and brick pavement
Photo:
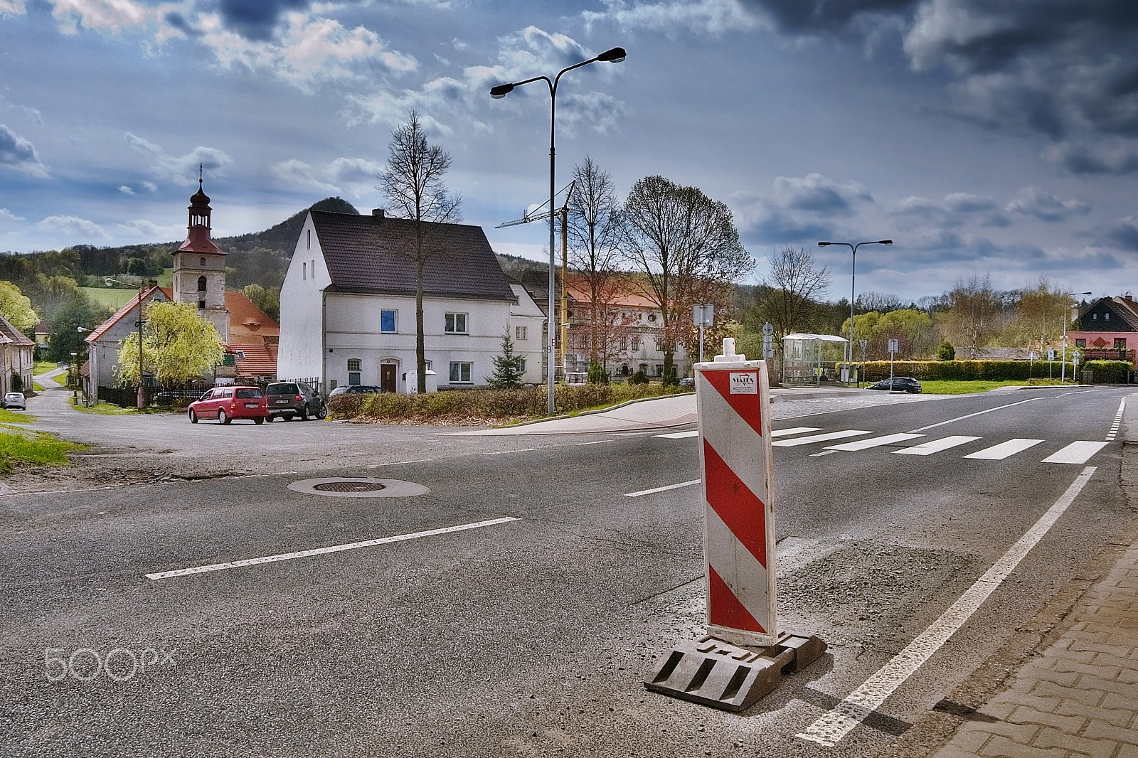
[[[1095,467],[1085,468],[1082,473],[1075,477],[1075,480],[1066,488],[1066,492],[1055,501],[1055,504],[1036,521],[1034,526],[1028,529],[990,569],[984,571],[984,575],[976,579],[976,583],[968,587],[940,618],[917,635],[905,650],[877,669],[865,684],[848,694],[833,710],[823,714],[818,720],[795,736],[832,748],[844,739],[855,726],[880,708],[881,703],[885,702],[897,687],[932,658],[933,653],[940,650],[988,596],[999,587],[1000,583],[1063,516],[1063,512],[1079,495],[1094,472]]]

